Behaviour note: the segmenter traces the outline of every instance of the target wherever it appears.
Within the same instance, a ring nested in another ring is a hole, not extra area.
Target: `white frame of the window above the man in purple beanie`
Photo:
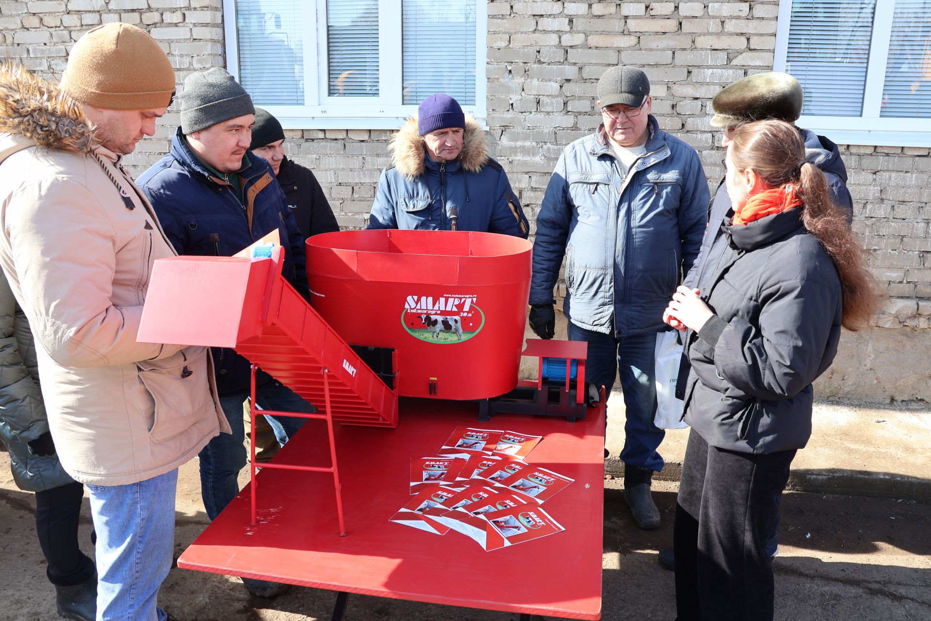
[[[377,97],[329,97],[327,59],[326,0],[293,0],[302,5],[304,21],[304,105],[260,104],[275,115],[285,129],[397,129],[417,113],[416,105],[392,104],[401,101],[403,60],[401,58],[401,0],[379,0]],[[475,104],[463,111],[484,125],[488,57],[488,7],[476,0]],[[223,35],[226,44],[226,70],[239,81],[239,46],[236,34],[236,0],[223,0]]]

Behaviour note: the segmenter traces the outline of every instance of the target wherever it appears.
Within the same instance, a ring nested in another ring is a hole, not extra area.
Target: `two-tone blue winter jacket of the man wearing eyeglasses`
[[[650,116],[646,153],[627,176],[603,133],[563,150],[536,219],[530,303],[553,300],[566,258],[563,311],[617,336],[663,330],[663,310],[698,255],[708,180],[691,146]]]

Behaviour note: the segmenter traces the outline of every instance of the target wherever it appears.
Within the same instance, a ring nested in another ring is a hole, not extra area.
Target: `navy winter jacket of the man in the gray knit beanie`
[[[197,160],[178,128],[169,155],[142,173],[138,184],[179,254],[232,256],[277,228],[281,244],[287,246],[283,275],[307,299],[304,236],[271,167],[250,151],[246,156],[249,166],[239,173],[240,201],[232,185],[213,176]],[[210,351],[221,395],[249,388],[246,358],[225,347]],[[264,383],[270,377],[261,373],[257,380]]]

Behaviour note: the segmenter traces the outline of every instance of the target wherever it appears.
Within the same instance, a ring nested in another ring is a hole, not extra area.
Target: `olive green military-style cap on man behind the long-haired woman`
[[[711,126],[733,128],[768,118],[794,123],[802,115],[803,99],[802,85],[789,74],[771,71],[748,75],[711,100]]]

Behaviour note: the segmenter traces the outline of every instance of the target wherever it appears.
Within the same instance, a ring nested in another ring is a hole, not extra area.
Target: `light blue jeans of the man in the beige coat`
[[[171,569],[178,470],[87,487],[97,531],[97,621],[165,621],[155,603]]]

